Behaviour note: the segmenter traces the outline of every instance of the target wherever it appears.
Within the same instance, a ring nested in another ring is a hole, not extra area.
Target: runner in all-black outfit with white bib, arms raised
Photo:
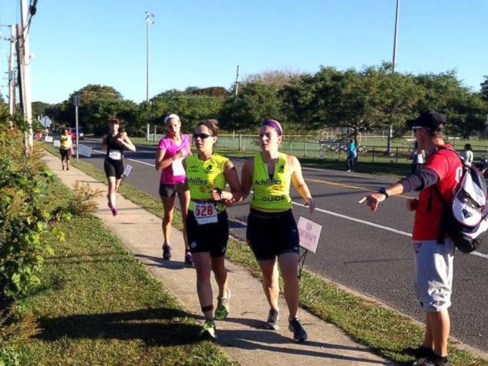
[[[115,216],[119,213],[116,206],[117,191],[122,181],[123,151],[127,148],[136,151],[136,147],[123,131],[122,122],[118,118],[110,120],[110,133],[102,138],[102,149],[107,150],[103,168],[108,181],[108,207]]]

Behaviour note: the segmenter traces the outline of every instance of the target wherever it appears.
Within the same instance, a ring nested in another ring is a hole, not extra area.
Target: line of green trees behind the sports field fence
[[[74,125],[72,97],[79,95],[79,121],[86,132],[106,132],[109,118],[117,116],[132,136],[145,135],[148,123],[162,132],[168,112],[181,116],[184,130],[216,117],[223,130],[255,132],[264,118],[274,118],[288,133],[331,126],[357,133],[392,126],[399,135],[405,120],[434,109],[447,115],[449,133],[467,137],[485,131],[488,113],[488,92],[464,86],[455,71],[398,73],[389,63],[361,70],[321,67],[315,74],[271,71],[248,76],[237,95],[234,88],[168,90],[137,104],[112,87],[87,85],[59,104],[35,102],[32,110],[56,126]]]

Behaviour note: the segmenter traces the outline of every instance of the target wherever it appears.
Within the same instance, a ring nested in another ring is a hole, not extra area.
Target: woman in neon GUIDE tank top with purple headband
[[[247,218],[247,243],[261,267],[263,289],[270,304],[268,329],[278,329],[278,266],[285,284],[288,326],[297,342],[307,334],[297,317],[299,283],[298,262],[300,238],[292,213],[290,183],[305,200],[310,212],[315,208],[302,176],[300,162],[293,155],[278,152],[283,130],[274,120],[265,120],[259,129],[261,152],[248,158],[242,169],[243,199],[254,194]],[[276,266],[276,263],[278,266]]]

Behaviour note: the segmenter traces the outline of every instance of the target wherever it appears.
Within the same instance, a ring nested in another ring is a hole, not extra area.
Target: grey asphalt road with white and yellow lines
[[[81,142],[94,149],[91,158],[81,158],[103,170],[104,155],[98,140],[94,141]],[[159,198],[159,173],[153,168],[155,147],[140,145],[137,149],[137,152],[124,153],[125,163],[133,166],[126,182]],[[233,161],[240,169],[244,160]],[[303,215],[323,226],[317,252],[307,256],[305,268],[423,321],[424,315],[414,293],[413,250],[409,236],[413,213],[406,211],[406,198],[391,197],[376,213],[358,204],[367,190],[377,190],[392,181],[365,174],[307,168],[304,168],[304,177],[317,210],[310,216],[306,209],[295,205],[295,217],[298,220]],[[293,201],[303,203],[292,191]],[[248,204],[249,199],[228,210],[231,233],[243,240]],[[485,352],[488,352],[487,284],[488,245],[482,247],[478,255],[456,255],[450,309],[452,335]]]

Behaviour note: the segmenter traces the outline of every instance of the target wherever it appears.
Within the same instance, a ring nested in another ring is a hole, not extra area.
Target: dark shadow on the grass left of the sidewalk
[[[68,338],[140,339],[146,345],[184,345],[200,339],[200,327],[185,324],[190,315],[177,309],[140,309],[105,314],[80,314],[59,318],[40,318],[42,332],[35,338],[56,341]],[[179,322],[174,319],[180,318]]]

